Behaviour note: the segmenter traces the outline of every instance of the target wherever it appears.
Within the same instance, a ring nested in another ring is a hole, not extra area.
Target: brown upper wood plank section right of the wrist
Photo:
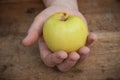
[[[119,0],[78,0],[79,11],[87,18],[89,29],[120,31]]]

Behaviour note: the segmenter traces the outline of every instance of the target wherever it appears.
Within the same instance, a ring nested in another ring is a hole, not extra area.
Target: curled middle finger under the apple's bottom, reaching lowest
[[[62,72],[70,70],[79,60],[80,55],[76,52],[69,54],[69,57],[61,64],[57,65],[58,69]]]

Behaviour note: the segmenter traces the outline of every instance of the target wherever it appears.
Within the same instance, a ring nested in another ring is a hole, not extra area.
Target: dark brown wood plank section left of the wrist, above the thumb
[[[34,17],[44,9],[42,3],[0,5],[0,36],[26,34]]]

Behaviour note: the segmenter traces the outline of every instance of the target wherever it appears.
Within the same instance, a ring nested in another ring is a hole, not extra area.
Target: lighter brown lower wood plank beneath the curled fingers
[[[1,78],[12,80],[119,80],[120,79],[120,32],[96,32],[98,40],[91,45],[89,57],[66,73],[44,66],[36,45],[25,48],[22,36],[0,39]],[[112,36],[112,37],[111,37]],[[47,75],[49,74],[49,75]]]

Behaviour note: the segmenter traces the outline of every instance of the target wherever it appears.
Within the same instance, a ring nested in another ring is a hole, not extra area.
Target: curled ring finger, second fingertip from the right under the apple
[[[79,62],[82,62],[88,55],[89,55],[90,49],[86,46],[79,49],[78,53],[80,54],[80,60]]]

